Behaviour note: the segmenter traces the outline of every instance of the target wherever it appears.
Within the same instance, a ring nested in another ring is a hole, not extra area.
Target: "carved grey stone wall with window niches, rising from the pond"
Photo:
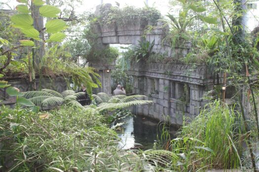
[[[137,113],[182,125],[183,116],[192,119],[206,103],[203,95],[213,89],[213,80],[205,65],[195,69],[185,64],[139,62],[131,65],[133,92],[144,94],[151,105],[137,107]]]

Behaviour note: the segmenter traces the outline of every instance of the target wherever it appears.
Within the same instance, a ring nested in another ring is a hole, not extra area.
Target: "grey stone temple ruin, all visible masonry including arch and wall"
[[[110,8],[106,4],[105,8]],[[102,8],[103,9],[103,8]],[[100,15],[100,6],[95,12]],[[132,44],[138,45],[143,40],[143,34],[148,21],[136,20],[128,22],[127,25],[100,24],[95,23],[92,29],[98,34],[100,48],[109,44]],[[170,43],[163,41],[168,32],[168,27],[157,23],[153,29],[146,33],[146,40],[154,41],[152,51],[166,54],[168,57],[175,57],[176,54],[185,57],[191,45],[176,46],[172,49]],[[94,65],[97,67],[97,65]],[[180,63],[148,63],[139,61],[131,64],[131,75],[133,76],[133,93],[144,94],[148,99],[153,100],[149,106],[137,107],[138,115],[146,115],[159,120],[164,120],[164,115],[169,115],[171,122],[182,124],[183,115],[193,118],[199,114],[200,107],[205,104],[202,99],[205,92],[213,89],[213,79],[208,72],[206,65],[200,65],[191,69],[190,65]],[[100,68],[105,73],[104,68]],[[105,75],[102,75],[105,77]],[[109,77],[109,75],[106,75]],[[111,94],[110,78],[101,79],[104,91]]]

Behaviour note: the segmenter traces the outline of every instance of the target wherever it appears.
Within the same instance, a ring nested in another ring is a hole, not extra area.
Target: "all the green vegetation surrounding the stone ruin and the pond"
[[[148,6],[111,7],[96,18],[92,14],[75,16],[74,5],[67,1],[19,2],[22,4],[12,17],[4,14],[1,20],[0,78],[19,76],[33,83],[37,77],[61,76],[74,86],[62,93],[40,86],[20,92],[8,82],[0,81],[0,88],[16,101],[14,109],[0,106],[0,171],[197,172],[213,168],[257,171],[253,143],[259,139],[256,101],[259,34],[254,31],[250,35],[242,29],[241,0],[172,0],[172,8],[180,7],[179,15],[168,14],[167,18]],[[65,8],[62,16],[61,10],[55,7],[58,4],[71,9]],[[37,20],[33,14],[37,12],[42,17],[38,22],[44,28],[33,23]],[[150,30],[157,22],[169,25],[163,41],[172,50],[190,44],[189,53],[185,57],[177,53],[172,57],[153,53],[154,42],[145,39],[119,59],[118,50],[112,47],[98,50],[98,35],[92,32],[90,24],[116,23],[125,27],[129,21],[139,19],[150,25],[146,28]],[[89,23],[85,24],[84,20]],[[83,30],[74,29],[75,23],[79,24],[77,29],[83,26]],[[64,32],[75,37],[61,43],[66,37]],[[111,122],[127,115],[124,108],[147,105],[151,101],[143,95],[92,94],[92,88],[101,86],[100,76],[94,68],[85,67],[86,64],[101,61],[108,65],[116,59],[112,80],[115,85],[123,84],[127,92],[133,84],[128,76],[130,63],[181,62],[192,68],[204,63],[214,76],[217,98],[222,97],[221,88],[227,84],[236,89],[233,99],[237,103],[225,104],[224,98],[215,100],[209,92],[208,104],[200,115],[191,120],[184,117],[178,138],[171,139],[165,123],[152,150],[122,150],[118,147],[117,126],[111,127]],[[79,63],[80,60],[84,62]],[[220,82],[222,73],[223,83]],[[74,91],[81,86],[86,86],[90,95],[88,106],[77,101],[85,94]],[[244,86],[247,93],[240,91]],[[246,116],[241,94],[254,105]],[[43,111],[44,108],[51,110]]]

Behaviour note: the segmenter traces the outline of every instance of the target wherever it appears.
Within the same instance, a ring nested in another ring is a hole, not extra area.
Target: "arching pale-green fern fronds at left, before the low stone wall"
[[[51,89],[41,89],[41,91],[25,92],[24,97],[33,102],[36,106],[39,106],[41,109],[50,109],[64,103],[83,108],[77,100],[84,95],[85,92],[75,93],[73,90],[66,90],[59,93]]]

